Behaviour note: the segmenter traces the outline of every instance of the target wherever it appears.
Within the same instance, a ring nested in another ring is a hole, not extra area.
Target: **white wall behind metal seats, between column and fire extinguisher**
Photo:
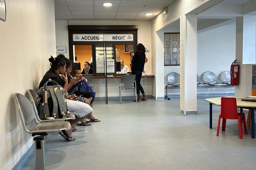
[[[197,74],[200,77],[206,71],[218,76],[230,71],[230,65],[236,58],[236,24],[213,28],[198,34]],[[234,93],[234,88],[198,88],[198,94]]]

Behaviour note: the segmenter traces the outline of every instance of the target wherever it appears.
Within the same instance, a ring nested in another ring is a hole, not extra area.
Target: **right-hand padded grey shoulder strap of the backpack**
[[[62,87],[54,88],[54,92],[58,101],[58,108],[63,117],[66,116],[67,113],[67,103],[64,97],[64,89]]]

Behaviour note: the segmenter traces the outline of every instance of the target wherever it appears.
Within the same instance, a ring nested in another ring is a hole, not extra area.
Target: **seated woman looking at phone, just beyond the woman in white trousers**
[[[79,88],[77,86],[78,82],[81,81],[81,77],[79,75],[76,75],[74,78],[70,75],[71,71],[72,71],[72,62],[70,61],[70,59],[67,59],[63,54],[59,54],[57,57],[61,57],[63,59],[65,59],[66,62],[66,73],[67,73],[67,78],[68,78],[68,94],[75,94],[76,96],[82,95],[82,98],[80,98],[79,101],[81,102],[85,102],[88,105],[90,105],[91,107],[93,106],[93,95],[90,92],[86,92],[86,91],[79,91]],[[84,100],[85,99],[85,100]],[[86,119],[90,119],[90,121],[88,122],[100,122],[99,119],[96,119],[93,116],[93,113],[91,113],[90,115],[88,115],[86,117]],[[81,120],[81,123],[77,124],[80,126],[90,126],[91,124],[86,122],[86,119]],[[74,129],[76,130],[76,129]]]

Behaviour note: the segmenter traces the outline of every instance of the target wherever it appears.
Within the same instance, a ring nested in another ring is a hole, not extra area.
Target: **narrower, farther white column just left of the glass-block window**
[[[156,99],[164,99],[164,33],[156,32]]]

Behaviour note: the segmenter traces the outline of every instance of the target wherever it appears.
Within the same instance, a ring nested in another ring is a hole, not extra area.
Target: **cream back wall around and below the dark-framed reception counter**
[[[151,57],[151,21],[115,21],[115,20],[56,20],[56,45],[63,45],[68,47],[68,30],[67,25],[138,25],[138,43],[143,45],[149,45],[149,53],[146,53],[148,62],[145,63],[145,74],[152,74],[152,57]],[[69,51],[64,54],[69,58]],[[153,61],[154,62],[154,61]],[[152,94],[152,79],[147,78],[143,82],[142,86],[144,88],[146,95]],[[93,79],[94,90],[96,91],[96,97],[105,96],[105,84],[102,83],[103,79]],[[119,96],[119,86],[120,79],[108,79],[108,96]],[[116,88],[117,87],[117,88]],[[133,92],[125,91],[123,96],[132,96]]]

